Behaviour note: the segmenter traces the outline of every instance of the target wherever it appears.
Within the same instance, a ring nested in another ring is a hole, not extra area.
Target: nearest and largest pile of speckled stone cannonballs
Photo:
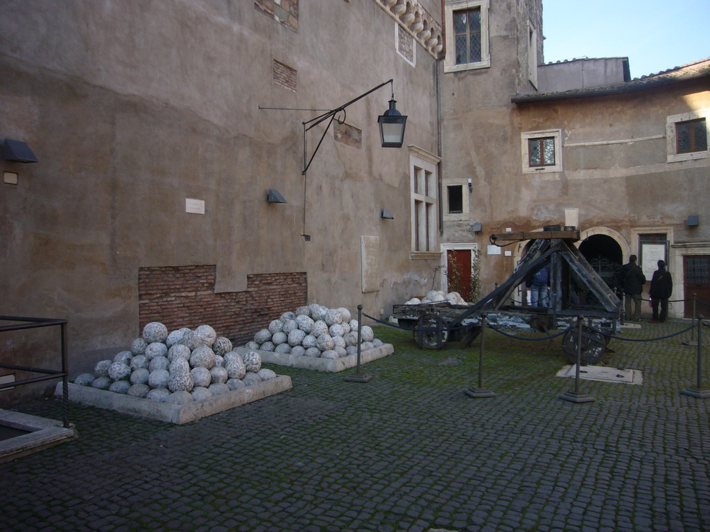
[[[261,355],[239,355],[231,341],[217,337],[214,328],[180,328],[168,333],[163,323],[143,328],[143,336],[114,360],[97,363],[94,373],[82,373],[75,384],[109,392],[146,397],[153,401],[186,404],[273,379],[261,369]]]

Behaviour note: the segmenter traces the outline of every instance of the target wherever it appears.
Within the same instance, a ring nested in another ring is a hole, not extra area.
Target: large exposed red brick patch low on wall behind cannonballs
[[[138,333],[160,321],[168,330],[214,327],[242,345],[285,311],[307,302],[305,272],[247,275],[244,292],[214,293],[217,266],[138,268]]]

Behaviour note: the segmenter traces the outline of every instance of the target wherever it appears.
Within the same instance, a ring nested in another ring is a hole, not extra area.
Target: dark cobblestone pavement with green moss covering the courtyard
[[[395,354],[363,367],[370,382],[271,366],[293,390],[184,426],[72,405],[79,439],[0,465],[0,528],[710,530],[710,399],[679,393],[696,379],[689,333],[613,340],[608,365],[642,370],[643,384],[583,380],[596,399],[586,404],[558,399],[574,387],[555,377],[567,363],[559,338],[486,331],[496,397],[471,399],[476,345],[420,350],[410,333],[376,335]],[[15,409],[59,419],[54,399]]]

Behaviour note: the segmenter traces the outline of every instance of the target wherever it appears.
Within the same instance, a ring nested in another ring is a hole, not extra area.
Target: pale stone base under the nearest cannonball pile
[[[228,394],[217,395],[202,401],[192,401],[187,404],[168,404],[70,383],[69,400],[74,403],[114,410],[121,412],[121,414],[133,414],[134,416],[182,425],[182,423],[190,423],[190,421],[212,416],[212,414],[229,410],[235,406],[241,406],[278,394],[278,392],[285,392],[285,390],[292,387],[291,377],[280,375],[275,379],[258,382],[244,389],[234,390]],[[57,384],[55,394],[62,394],[61,382]]]

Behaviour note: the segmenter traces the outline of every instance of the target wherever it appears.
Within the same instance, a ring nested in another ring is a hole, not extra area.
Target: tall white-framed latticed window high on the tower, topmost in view
[[[488,0],[455,0],[446,4],[444,72],[491,66],[488,52]]]

